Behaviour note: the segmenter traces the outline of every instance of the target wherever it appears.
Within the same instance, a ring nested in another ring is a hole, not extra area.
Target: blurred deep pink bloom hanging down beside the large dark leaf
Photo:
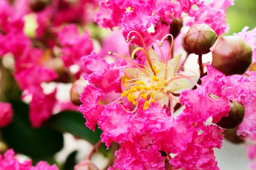
[[[43,66],[34,66],[15,73],[14,77],[21,90],[27,91],[26,95],[32,95],[32,100],[29,105],[29,119],[31,124],[34,127],[42,126],[43,122],[52,115],[52,109],[56,102],[56,90],[45,95],[41,83],[50,82],[56,79],[58,75],[51,69],[44,68]],[[42,106],[44,106],[45,109],[42,109]]]

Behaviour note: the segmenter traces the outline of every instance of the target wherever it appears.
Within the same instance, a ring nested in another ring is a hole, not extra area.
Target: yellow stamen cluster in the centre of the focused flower
[[[156,68],[156,65],[153,65],[153,69],[156,73],[159,73],[159,69]],[[135,81],[134,83],[127,84],[129,81]],[[162,84],[162,82],[160,82]],[[150,103],[155,102],[155,96],[157,92],[161,90],[161,86],[159,86],[159,78],[155,75],[150,77],[143,77],[138,79],[125,79],[124,86],[127,87],[130,86],[130,89],[127,91],[124,91],[124,93],[121,94],[122,97],[127,96],[127,99],[129,102],[132,102],[132,104],[137,105],[140,99],[145,99],[143,110],[146,110],[146,108],[149,107]]]

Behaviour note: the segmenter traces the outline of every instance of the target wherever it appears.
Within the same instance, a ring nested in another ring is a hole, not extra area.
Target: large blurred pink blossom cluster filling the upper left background
[[[90,54],[93,45],[88,31],[79,33],[75,23],[92,23],[92,10],[97,7],[97,3],[87,0],[76,3],[53,0],[51,5],[35,12],[31,8],[33,2],[15,0],[11,3],[1,0],[0,56],[13,55],[15,64],[11,69],[22,90],[22,99],[29,99],[29,119],[32,126],[40,127],[52,115],[54,107],[62,105],[56,100],[57,88],[45,93],[42,84],[67,83],[70,79],[79,79],[84,70],[80,58]],[[34,15],[34,22],[38,25],[34,37],[24,32],[24,18],[28,15]],[[56,53],[54,49],[61,50]],[[70,73],[70,66],[74,64],[79,66],[77,75]],[[71,102],[65,105],[64,108],[68,108],[68,105],[69,108],[77,109]],[[5,119],[9,117],[11,114]],[[5,121],[5,124],[8,122]]]

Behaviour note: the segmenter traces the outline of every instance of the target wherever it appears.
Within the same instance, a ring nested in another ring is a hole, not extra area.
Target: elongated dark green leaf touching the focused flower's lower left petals
[[[83,114],[75,111],[63,111],[53,115],[51,119],[47,121],[47,125],[62,132],[69,132],[92,144],[96,144],[100,140],[100,135],[102,133],[99,128],[95,128],[94,132],[86,127]]]

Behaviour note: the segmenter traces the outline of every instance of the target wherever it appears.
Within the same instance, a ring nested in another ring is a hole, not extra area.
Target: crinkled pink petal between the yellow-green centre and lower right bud
[[[192,126],[202,126],[210,117],[213,117],[213,123],[217,123],[230,110],[229,98],[223,93],[226,76],[207,65],[207,75],[201,79],[202,85],[197,89],[184,90],[180,94],[181,104],[185,105],[184,114],[188,115]]]

